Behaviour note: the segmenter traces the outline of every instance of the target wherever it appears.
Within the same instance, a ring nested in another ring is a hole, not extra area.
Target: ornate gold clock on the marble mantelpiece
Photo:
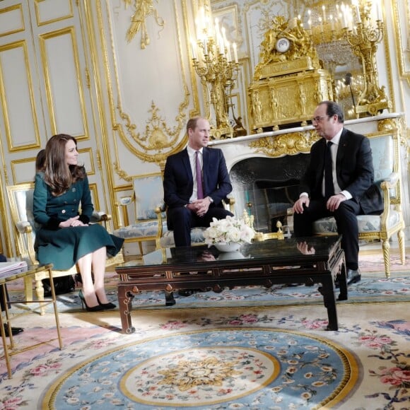
[[[305,127],[319,102],[333,99],[332,77],[298,18],[271,21],[248,93],[250,126],[257,133]]]

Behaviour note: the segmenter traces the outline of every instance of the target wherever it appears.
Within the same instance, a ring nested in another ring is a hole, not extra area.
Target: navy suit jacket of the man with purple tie
[[[223,153],[218,148],[203,148],[202,175],[204,197],[211,197],[211,206],[221,206],[232,191]],[[168,208],[185,206],[194,189],[194,178],[187,148],[167,158],[164,171],[164,201]]]

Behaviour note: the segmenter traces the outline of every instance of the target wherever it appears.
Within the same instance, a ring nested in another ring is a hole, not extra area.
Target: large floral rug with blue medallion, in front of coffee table
[[[404,409],[408,309],[344,304],[339,332],[316,305],[139,310],[129,335],[118,312],[63,313],[61,351],[52,316],[25,313],[0,408]]]

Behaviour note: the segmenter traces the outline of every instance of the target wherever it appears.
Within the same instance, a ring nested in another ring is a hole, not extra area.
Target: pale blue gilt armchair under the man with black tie
[[[378,132],[369,136],[373,152],[375,183],[382,190],[385,209],[381,215],[358,215],[359,240],[382,242],[385,274],[390,276],[389,240],[397,233],[400,259],[404,264],[404,218],[401,199],[400,134],[396,129]],[[315,222],[318,235],[336,234],[334,218],[322,218]]]

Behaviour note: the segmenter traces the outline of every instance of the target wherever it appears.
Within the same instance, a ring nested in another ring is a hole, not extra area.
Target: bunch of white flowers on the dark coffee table
[[[205,242],[213,244],[250,243],[254,238],[254,230],[242,218],[227,216],[225,219],[213,218],[209,228],[204,232]]]

